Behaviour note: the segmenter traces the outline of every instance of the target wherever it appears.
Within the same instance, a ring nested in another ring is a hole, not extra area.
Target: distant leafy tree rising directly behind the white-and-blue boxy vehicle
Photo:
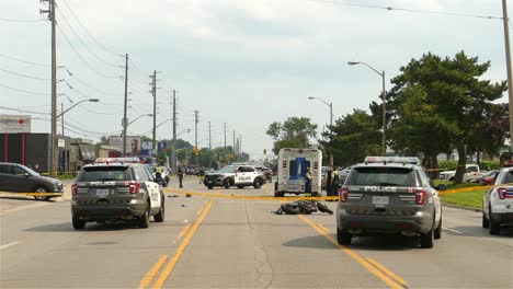
[[[274,139],[273,152],[277,154],[282,148],[308,148],[316,130],[317,125],[310,118],[293,116],[283,124],[272,123],[265,134]]]

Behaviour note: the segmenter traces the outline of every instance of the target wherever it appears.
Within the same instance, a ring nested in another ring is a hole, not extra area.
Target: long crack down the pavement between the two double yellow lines
[[[255,258],[255,269],[256,269],[256,282],[262,288],[270,288],[274,281],[274,270],[269,261],[269,252],[265,250],[265,246],[256,238],[255,228],[251,213],[249,211],[248,201],[244,200],[244,211],[246,211],[246,224],[249,228],[249,231],[254,240],[254,258]]]

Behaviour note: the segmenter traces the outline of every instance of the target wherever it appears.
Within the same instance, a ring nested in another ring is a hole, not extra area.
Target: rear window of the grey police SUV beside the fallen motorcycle
[[[415,172],[409,167],[355,167],[346,185],[412,187],[417,186]]]

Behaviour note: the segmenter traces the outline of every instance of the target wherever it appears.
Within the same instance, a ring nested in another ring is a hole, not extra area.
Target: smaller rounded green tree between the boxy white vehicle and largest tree
[[[333,161],[339,165],[362,162],[367,155],[378,155],[381,132],[376,120],[362,109],[342,116],[330,127],[332,137],[320,143],[333,153]],[[323,132],[330,137],[330,131]]]

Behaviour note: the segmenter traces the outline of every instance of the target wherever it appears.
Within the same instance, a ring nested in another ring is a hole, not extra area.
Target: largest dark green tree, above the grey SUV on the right
[[[459,161],[455,183],[461,183],[467,155],[478,147],[491,149],[501,138],[481,134],[480,124],[492,114],[492,102],[506,90],[505,82],[482,80],[489,68],[489,61],[479,63],[477,57],[464,51],[454,58],[426,54],[401,67],[402,73],[391,80],[395,86],[388,95],[395,148],[423,152],[431,162],[435,154],[456,148]]]

